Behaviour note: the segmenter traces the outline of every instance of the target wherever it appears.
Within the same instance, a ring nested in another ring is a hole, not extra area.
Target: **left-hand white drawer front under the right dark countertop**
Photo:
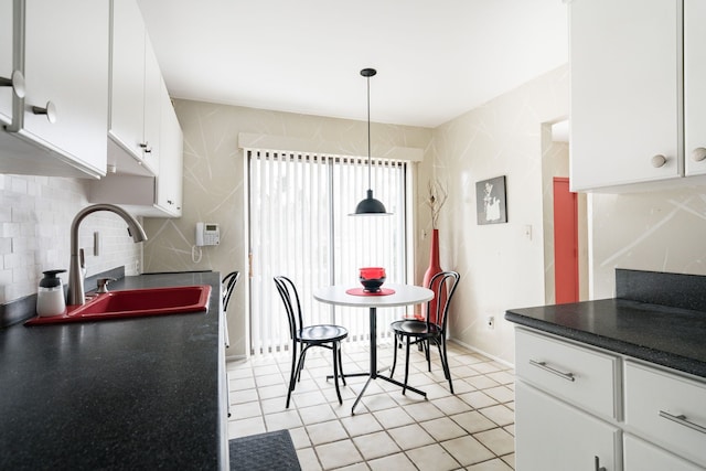
[[[620,419],[620,360],[517,329],[515,371],[537,388],[598,415]]]

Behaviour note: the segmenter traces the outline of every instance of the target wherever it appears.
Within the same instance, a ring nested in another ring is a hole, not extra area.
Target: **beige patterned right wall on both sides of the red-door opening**
[[[543,253],[553,246],[542,231],[543,217],[550,228],[542,194],[546,201],[550,193],[546,184],[543,190],[542,169],[550,168],[554,151],[545,147],[543,156],[541,133],[543,124],[567,116],[567,78],[559,67],[435,129],[431,159],[424,162],[451,190],[440,218],[441,266],[458,270],[462,281],[450,335],[507,362],[514,361],[514,334],[504,311],[542,306],[552,292],[545,285],[553,257]],[[474,183],[498,175],[507,178],[509,223],[478,226]],[[614,296],[616,268],[706,275],[706,189],[581,199],[589,299]],[[428,242],[419,247],[424,259]],[[495,317],[494,330],[484,325],[488,315]]]

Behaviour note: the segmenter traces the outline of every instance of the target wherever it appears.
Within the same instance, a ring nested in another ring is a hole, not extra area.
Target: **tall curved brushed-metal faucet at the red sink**
[[[84,274],[81,267],[81,257],[78,250],[78,226],[81,222],[90,213],[96,211],[109,211],[122,217],[128,223],[128,234],[132,236],[132,240],[138,242],[147,240],[147,234],[145,229],[124,208],[114,204],[94,204],[93,206],[84,207],[76,214],[74,222],[71,223],[71,264],[68,266],[68,304],[84,304],[86,297],[84,296]]]

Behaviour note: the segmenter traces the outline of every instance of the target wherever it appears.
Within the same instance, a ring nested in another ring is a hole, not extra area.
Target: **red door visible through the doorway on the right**
[[[569,179],[554,178],[554,288],[557,304],[577,302],[578,197]]]

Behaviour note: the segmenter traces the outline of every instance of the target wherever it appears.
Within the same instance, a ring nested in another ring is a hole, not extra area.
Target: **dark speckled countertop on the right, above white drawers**
[[[520,325],[706,378],[706,312],[627,299],[511,309]]]

